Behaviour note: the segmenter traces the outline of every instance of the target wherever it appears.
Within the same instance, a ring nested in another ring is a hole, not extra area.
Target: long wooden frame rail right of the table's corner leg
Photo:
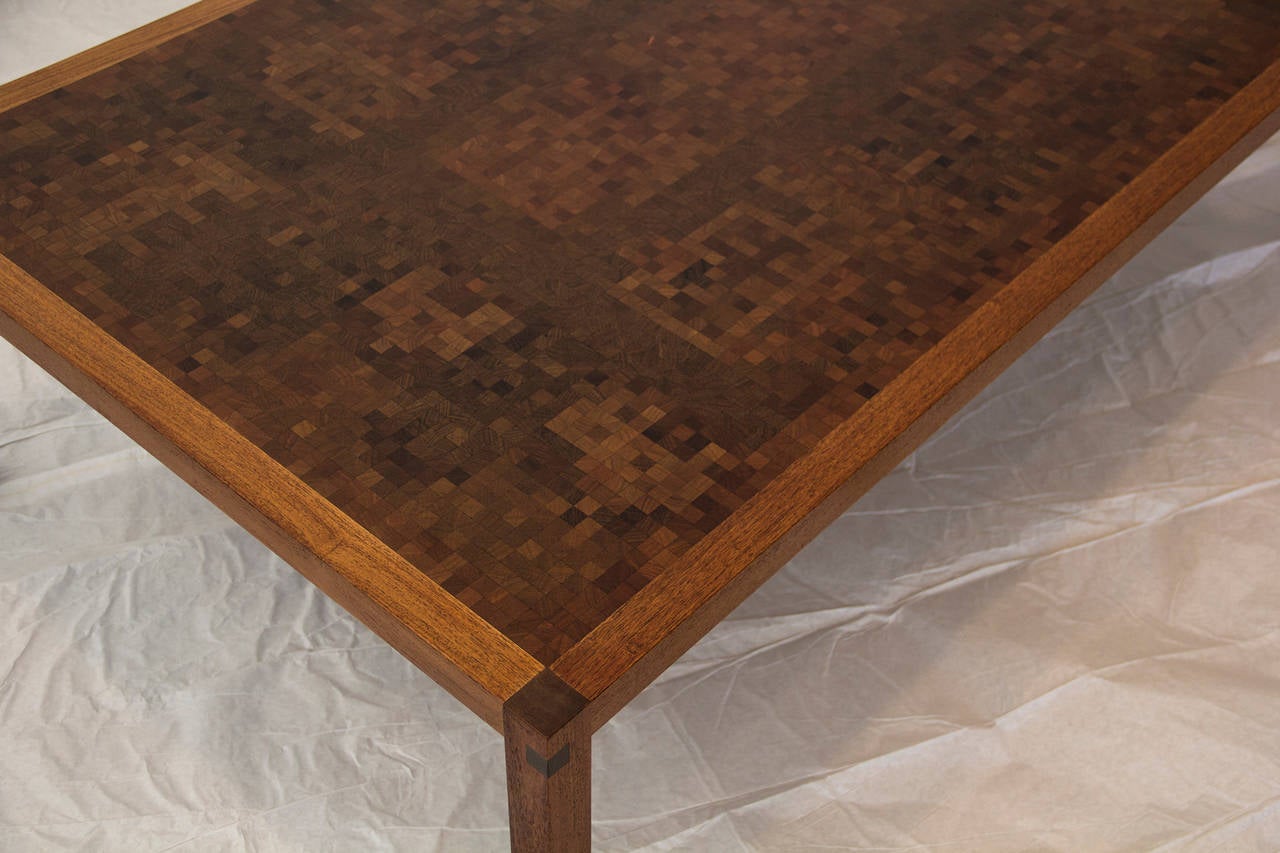
[[[1280,61],[553,665],[599,726],[1280,129]]]

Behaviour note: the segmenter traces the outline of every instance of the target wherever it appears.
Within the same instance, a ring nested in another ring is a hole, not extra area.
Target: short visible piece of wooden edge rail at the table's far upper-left
[[[110,68],[129,56],[136,56],[143,50],[163,45],[170,38],[191,32],[197,27],[204,27],[206,23],[218,20],[223,15],[242,9],[251,3],[253,0],[200,0],[200,3],[179,9],[137,29],[131,29],[123,36],[116,36],[74,56],[68,56],[52,65],[46,65],[18,79],[0,85],[0,113],[12,110],[19,104],[26,104],[41,95],[47,95],[68,83],[83,79],[104,68]]]

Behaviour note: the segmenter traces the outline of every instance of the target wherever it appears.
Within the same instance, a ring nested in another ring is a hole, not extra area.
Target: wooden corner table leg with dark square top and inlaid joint
[[[584,699],[550,670],[503,706],[513,853],[591,849],[591,730]]]

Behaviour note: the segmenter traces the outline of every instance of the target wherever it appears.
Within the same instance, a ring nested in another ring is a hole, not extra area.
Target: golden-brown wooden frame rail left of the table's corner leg
[[[534,658],[4,256],[0,334],[502,729]]]

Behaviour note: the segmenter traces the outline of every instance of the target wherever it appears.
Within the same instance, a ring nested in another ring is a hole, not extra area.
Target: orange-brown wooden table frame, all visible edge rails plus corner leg
[[[253,1],[0,85],[0,111]],[[0,336],[502,731],[515,849],[585,850],[591,733],[1276,131],[1280,61],[549,667],[4,256]]]

